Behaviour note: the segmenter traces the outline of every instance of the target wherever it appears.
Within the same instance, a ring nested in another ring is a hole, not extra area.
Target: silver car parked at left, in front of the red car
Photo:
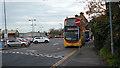
[[[11,46],[27,46],[28,43],[27,42],[21,42],[19,39],[11,39],[11,40],[7,40],[7,46],[11,47]]]

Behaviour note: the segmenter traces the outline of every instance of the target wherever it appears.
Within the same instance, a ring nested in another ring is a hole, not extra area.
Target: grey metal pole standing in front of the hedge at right
[[[111,10],[111,2],[109,2],[109,14],[110,14],[110,31],[111,31],[111,53],[114,54],[114,47],[113,47],[113,34],[112,34],[112,10]]]

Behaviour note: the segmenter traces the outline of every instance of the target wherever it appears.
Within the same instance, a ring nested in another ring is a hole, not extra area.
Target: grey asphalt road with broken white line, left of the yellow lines
[[[62,38],[49,43],[32,43],[30,47],[2,51],[2,66],[52,66],[78,48],[64,48]]]

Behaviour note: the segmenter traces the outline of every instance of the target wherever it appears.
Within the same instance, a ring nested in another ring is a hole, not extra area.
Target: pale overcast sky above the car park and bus
[[[49,31],[51,28],[60,29],[59,23],[64,23],[66,16],[85,12],[86,3],[77,0],[6,0],[7,28],[19,32],[32,30],[29,19],[36,19],[35,31]],[[39,2],[38,2],[39,1]],[[82,0],[81,0],[82,1]],[[0,2],[0,28],[4,29],[3,0]],[[86,16],[86,14],[84,13]],[[88,16],[86,16],[88,18]],[[43,28],[41,28],[43,27]],[[41,30],[42,29],[42,30]]]

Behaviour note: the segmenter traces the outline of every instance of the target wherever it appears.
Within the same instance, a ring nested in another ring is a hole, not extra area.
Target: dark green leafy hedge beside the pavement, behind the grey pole
[[[120,8],[118,8],[116,4],[117,3],[112,3],[114,55],[111,54],[109,16],[101,15],[92,19],[91,31],[95,36],[94,44],[96,49],[100,50],[100,55],[107,60],[109,66],[120,68]],[[108,11],[109,10],[106,10],[106,12]]]

